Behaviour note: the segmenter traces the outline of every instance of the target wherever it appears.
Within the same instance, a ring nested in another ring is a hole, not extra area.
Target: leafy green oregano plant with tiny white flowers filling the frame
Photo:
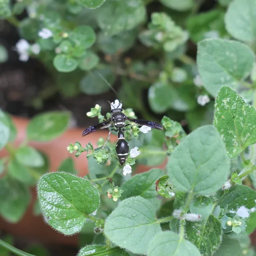
[[[30,144],[61,136],[69,112],[34,116],[16,145],[19,127],[0,110],[3,219],[20,221],[36,186],[34,213],[56,232],[81,234],[78,256],[255,254],[256,0],[206,2],[0,1],[0,18],[20,36],[19,60],[39,60],[55,93],[97,99],[112,89],[118,98],[108,111],[108,94],[82,110],[94,125],[67,151],[87,161],[83,177],[70,157],[48,172],[49,157]],[[0,45],[0,63],[8,58]],[[116,140],[90,143],[99,129]],[[34,255],[8,237],[2,247]]]

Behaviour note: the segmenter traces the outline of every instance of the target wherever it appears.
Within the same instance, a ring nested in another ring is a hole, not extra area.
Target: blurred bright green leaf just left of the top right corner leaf
[[[186,28],[192,40],[198,43],[203,39],[210,38],[211,34],[217,34],[219,37],[227,35],[224,15],[225,13],[221,10],[212,10],[189,17],[186,21]]]

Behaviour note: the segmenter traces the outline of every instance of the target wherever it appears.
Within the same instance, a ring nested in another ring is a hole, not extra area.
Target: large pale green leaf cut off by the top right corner
[[[234,0],[230,3],[225,16],[226,28],[230,35],[244,42],[255,41],[255,11],[255,0]]]

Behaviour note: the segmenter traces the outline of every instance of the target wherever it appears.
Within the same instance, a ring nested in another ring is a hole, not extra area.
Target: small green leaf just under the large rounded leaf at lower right
[[[203,218],[207,218],[212,213],[212,201],[210,198],[200,196],[194,198],[190,203],[189,210],[192,213],[200,214]]]

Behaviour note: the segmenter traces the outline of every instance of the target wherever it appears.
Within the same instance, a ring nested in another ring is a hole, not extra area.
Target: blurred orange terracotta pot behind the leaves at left
[[[13,122],[17,128],[17,138],[15,140],[15,145],[19,145],[26,137],[26,126],[29,122],[28,119],[13,117]],[[108,137],[107,130],[97,131],[90,134],[88,137],[81,137],[81,132],[83,128],[71,128],[66,131],[62,136],[55,140],[47,143],[31,142],[29,145],[37,148],[38,150],[47,154],[50,160],[50,171],[55,172],[60,165],[61,161],[67,157],[73,157],[76,169],[79,172],[79,176],[84,176],[88,173],[87,158],[81,155],[76,158],[74,154],[70,154],[67,151],[67,146],[70,143],[75,143],[77,140],[83,145],[87,143],[92,143],[96,146],[96,142],[99,137]],[[116,136],[111,136],[111,141],[116,141]],[[0,157],[8,154],[5,150],[0,151]],[[165,163],[158,167],[165,166]],[[152,166],[139,166],[137,172],[145,172],[151,169]],[[41,216],[35,216],[32,212],[32,207],[36,198],[35,189],[32,190],[33,200],[30,204],[26,214],[23,216],[22,220],[17,224],[10,224],[0,218],[0,229],[5,230],[9,234],[21,237],[27,237],[41,242],[52,242],[52,243],[65,243],[65,244],[77,244],[78,236],[64,236],[47,224],[44,223]]]

